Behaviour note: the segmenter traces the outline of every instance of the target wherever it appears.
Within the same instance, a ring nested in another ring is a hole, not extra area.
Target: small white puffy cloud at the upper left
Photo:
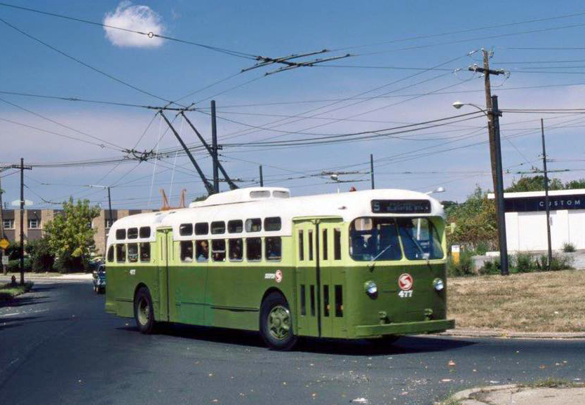
[[[132,29],[140,32],[163,34],[165,27],[162,18],[149,6],[134,6],[130,1],[122,1],[116,10],[106,13],[104,24],[112,27]],[[115,46],[135,48],[156,48],[163,44],[163,39],[153,36],[135,34],[121,29],[104,27],[106,38]]]

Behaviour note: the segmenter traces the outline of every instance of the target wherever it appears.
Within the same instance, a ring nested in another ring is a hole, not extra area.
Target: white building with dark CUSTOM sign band
[[[509,252],[546,251],[544,191],[504,193],[504,207]],[[585,249],[585,189],[549,191],[549,207],[552,249],[564,243]]]

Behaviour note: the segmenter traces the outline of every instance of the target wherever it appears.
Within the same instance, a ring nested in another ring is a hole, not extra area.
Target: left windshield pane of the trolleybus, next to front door
[[[349,227],[349,254],[357,261],[400,260],[394,218],[358,218]]]

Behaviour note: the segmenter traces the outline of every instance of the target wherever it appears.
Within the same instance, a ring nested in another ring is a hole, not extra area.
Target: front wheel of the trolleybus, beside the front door
[[[282,294],[269,294],[260,306],[260,335],[273,350],[290,350],[297,343],[292,330],[292,315]]]

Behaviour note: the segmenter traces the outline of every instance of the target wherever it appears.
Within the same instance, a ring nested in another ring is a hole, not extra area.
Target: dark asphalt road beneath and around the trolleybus
[[[585,380],[585,341],[412,336],[273,352],[241,331],[144,336],[104,299],[90,282],[37,281],[0,307],[2,404],[432,404],[477,385]]]

